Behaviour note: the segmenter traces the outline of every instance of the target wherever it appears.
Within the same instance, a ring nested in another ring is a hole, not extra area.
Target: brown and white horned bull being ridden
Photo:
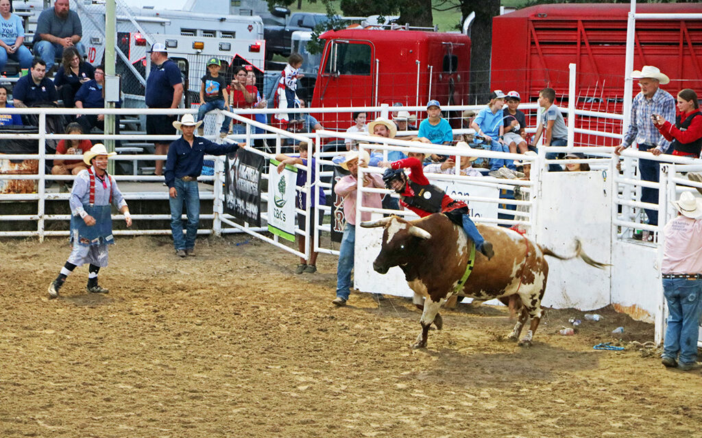
[[[438,329],[442,328],[439,307],[456,294],[458,282],[465,273],[470,259],[468,238],[463,229],[445,214],[432,214],[414,221],[391,216],[363,222],[361,226],[385,227],[380,254],[373,261],[373,269],[384,274],[392,266],[399,266],[414,291],[414,303],[420,305],[424,299],[420,320],[422,332],[413,347],[426,347],[432,322]],[[517,324],[509,336],[514,341],[519,338],[527,318],[531,317],[529,331],[519,345],[531,345],[541,320],[541,299],[548,278],[544,256],[562,260],[580,257],[591,266],[606,266],[590,259],[578,240],[576,253],[563,257],[508,228],[477,227],[485,240],[492,242],[495,256],[488,260],[483,254],[475,253],[475,266],[458,295],[481,301],[499,299],[511,310],[519,311]]]

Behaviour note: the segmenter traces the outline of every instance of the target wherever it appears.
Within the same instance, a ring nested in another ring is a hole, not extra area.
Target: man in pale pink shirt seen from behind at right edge
[[[661,273],[668,328],[661,362],[665,367],[689,371],[702,367],[697,362],[702,313],[702,200],[684,191],[673,205],[678,215],[663,229]]]

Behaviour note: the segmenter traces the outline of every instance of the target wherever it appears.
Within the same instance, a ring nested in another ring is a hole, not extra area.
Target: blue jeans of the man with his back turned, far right
[[[664,278],[663,295],[668,301],[668,328],[665,329],[662,357],[681,364],[697,360],[697,338],[702,312],[702,280]]]

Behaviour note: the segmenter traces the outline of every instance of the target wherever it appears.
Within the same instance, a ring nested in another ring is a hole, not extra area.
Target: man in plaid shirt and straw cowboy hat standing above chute
[[[631,77],[639,79],[641,92],[634,97],[631,106],[631,124],[624,136],[624,141],[614,148],[614,153],[620,155],[621,151],[631,146],[633,142],[638,144],[640,151],[649,151],[654,155],[668,153],[670,142],[656,130],[651,116],[657,114],[663,116],[664,120],[675,119],[675,99],[670,93],[659,88],[659,85],[669,83],[670,78],[651,65],[644,65],[641,71],[633,71]],[[639,159],[640,178],[643,181],[659,182],[659,167],[658,161]],[[658,189],[642,187],[641,202],[658,204]],[[644,210],[649,225],[658,225],[658,210]]]

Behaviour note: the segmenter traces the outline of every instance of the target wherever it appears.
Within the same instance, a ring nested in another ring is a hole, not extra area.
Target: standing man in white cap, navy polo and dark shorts
[[[175,62],[168,59],[166,46],[154,43],[149,50],[151,57],[151,73],[146,81],[145,100],[149,108],[177,109],[180,98],[183,97],[183,77]],[[176,116],[171,114],[148,114],[146,116],[147,135],[176,135],[173,123]],[[156,155],[168,152],[168,141],[158,139],[154,142]],[[156,160],[154,174],[163,174],[163,160]]]

